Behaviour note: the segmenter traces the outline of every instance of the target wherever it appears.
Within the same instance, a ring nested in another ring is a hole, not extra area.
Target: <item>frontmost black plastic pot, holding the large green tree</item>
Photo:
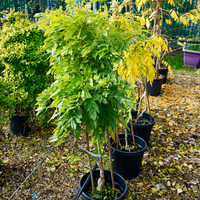
[[[83,175],[83,177],[80,179],[79,181],[79,189],[83,186],[83,184],[85,183],[87,177],[88,177],[89,173],[86,173]],[[99,200],[124,200],[126,199],[126,194],[127,194],[127,184],[126,181],[124,180],[124,178],[122,176],[120,176],[119,174],[114,172],[114,180],[115,180],[115,188],[116,191],[110,190],[111,188],[111,174],[110,171],[108,170],[104,170],[104,175],[105,175],[105,188],[104,191],[102,193],[102,195],[96,195],[95,199],[99,199]],[[95,185],[97,183],[97,180],[99,178],[99,170],[94,171],[93,173],[94,176],[94,181],[95,181]],[[114,193],[114,198],[110,196],[110,194],[108,194],[108,190],[110,190],[110,193]],[[105,193],[107,191],[107,194],[105,196]],[[81,194],[82,200],[92,200],[93,198],[90,197],[91,195],[91,179],[89,179],[88,181],[88,185],[86,187],[86,189],[83,191],[83,193]],[[104,196],[103,196],[104,195]],[[117,195],[117,196],[116,196]]]

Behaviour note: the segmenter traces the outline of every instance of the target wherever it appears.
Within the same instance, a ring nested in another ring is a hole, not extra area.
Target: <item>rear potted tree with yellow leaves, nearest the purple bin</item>
[[[168,3],[172,9],[169,9],[169,10],[163,9],[163,6],[165,3]],[[147,4],[150,5],[150,8],[148,6],[145,6]],[[164,78],[163,76],[159,75],[159,69],[161,69],[161,60],[164,57],[165,53],[171,50],[171,48],[169,47],[167,43],[166,38],[162,34],[163,15],[169,16],[169,19],[166,19],[167,24],[171,24],[171,20],[175,20],[175,21],[182,21],[184,25],[189,25],[189,22],[186,19],[191,20],[195,24],[198,23],[199,11],[197,9],[193,9],[189,13],[180,14],[178,12],[178,9],[176,9],[177,7],[181,6],[178,0],[177,1],[172,0],[172,1],[167,1],[167,2],[163,0],[156,0],[156,1],[137,0],[136,6],[138,8],[138,11],[143,11],[142,16],[138,15],[137,18],[140,20],[142,24],[146,25],[146,27],[151,30],[152,37],[159,36],[160,38],[162,38],[162,40],[160,39],[160,44],[155,47],[155,48],[161,49],[161,56],[157,57],[155,55],[155,61],[156,61],[155,62],[155,67],[156,67],[155,81],[152,84],[147,83],[148,93],[150,93],[153,96],[158,96],[160,94],[161,85]],[[164,66],[166,66],[166,63]],[[169,65],[168,65],[168,69],[170,70]],[[154,91],[154,87],[156,88],[156,91]]]

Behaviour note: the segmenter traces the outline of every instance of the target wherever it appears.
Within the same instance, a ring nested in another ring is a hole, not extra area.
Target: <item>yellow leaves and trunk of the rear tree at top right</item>
[[[166,19],[167,24],[171,24],[171,20],[175,20],[177,22],[182,22],[185,26],[189,25],[189,21],[191,21],[194,24],[197,24],[200,20],[200,1],[197,3],[197,8],[191,10],[187,13],[179,13],[178,9],[183,5],[185,1],[189,1],[192,3],[192,0],[136,0],[136,7],[138,11],[141,12],[141,15],[135,14],[136,19],[142,24],[147,27],[148,30],[152,32],[152,34],[156,34],[159,37],[164,38],[164,36],[161,33],[162,30],[162,23],[163,23],[163,15],[168,15],[169,19]],[[149,3],[150,8],[147,8],[146,5]],[[168,3],[170,6],[172,6],[172,9],[163,9],[164,3]],[[164,44],[162,39],[159,39],[160,47],[157,45],[158,51],[160,51],[160,48],[162,49],[160,58],[157,57],[157,76],[158,76],[158,69],[160,66],[160,61],[162,61],[165,53],[164,49],[167,49],[168,44]],[[180,45],[180,42],[178,43]],[[170,49],[169,49],[170,50]],[[162,61],[163,62],[163,61]],[[164,62],[163,62],[164,63]],[[167,63],[165,63],[168,65]],[[168,65],[168,69],[171,72],[171,66]]]

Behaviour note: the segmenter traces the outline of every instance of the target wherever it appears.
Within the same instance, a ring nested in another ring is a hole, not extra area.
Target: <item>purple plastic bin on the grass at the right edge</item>
[[[184,52],[184,65],[197,68],[200,62],[200,52],[199,51],[192,51],[183,48]]]

